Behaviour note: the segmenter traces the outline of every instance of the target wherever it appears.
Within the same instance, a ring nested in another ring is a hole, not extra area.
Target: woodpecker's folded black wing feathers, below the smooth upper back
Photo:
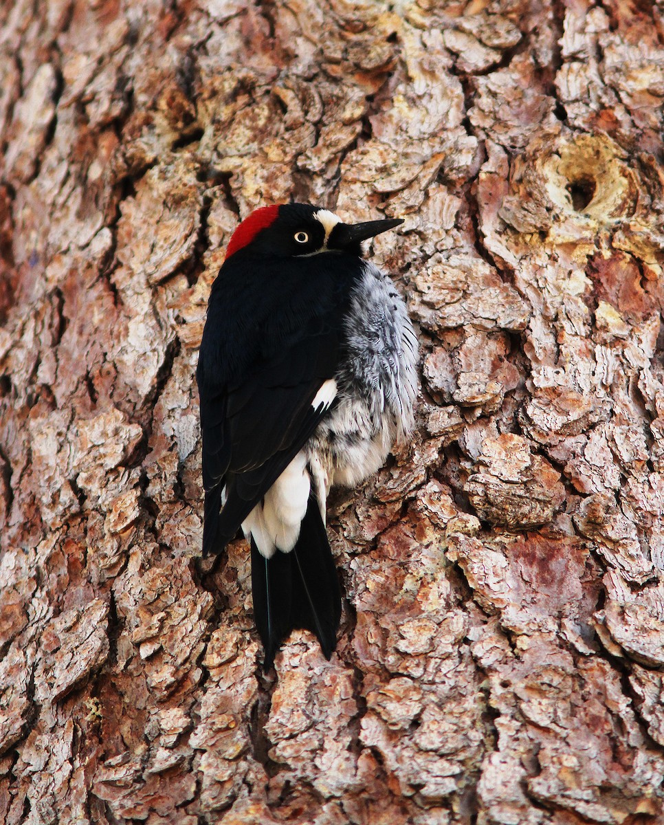
[[[290,464],[330,408],[312,402],[334,377],[337,325],[284,343],[242,383],[200,388],[205,523],[203,553],[233,539],[267,490]],[[222,507],[222,490],[225,502]]]

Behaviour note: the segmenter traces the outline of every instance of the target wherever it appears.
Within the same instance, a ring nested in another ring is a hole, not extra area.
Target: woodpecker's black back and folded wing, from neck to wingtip
[[[233,538],[328,414],[311,402],[337,372],[343,318],[363,266],[345,252],[287,257],[257,254],[252,243],[221,267],[196,371],[204,552]],[[223,485],[227,501],[219,517]]]

